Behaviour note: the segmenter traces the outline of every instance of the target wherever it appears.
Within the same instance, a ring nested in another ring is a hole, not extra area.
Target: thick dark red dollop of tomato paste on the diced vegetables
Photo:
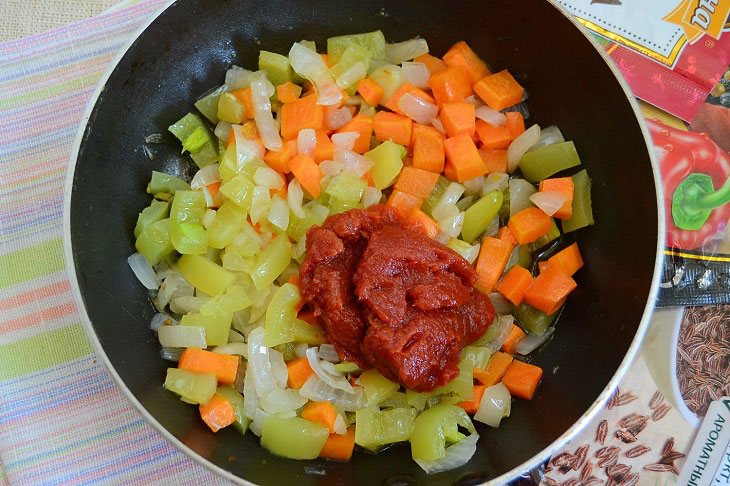
[[[469,262],[404,228],[388,206],[311,228],[299,277],[303,301],[341,359],[415,391],[455,378],[461,350],[494,319]]]

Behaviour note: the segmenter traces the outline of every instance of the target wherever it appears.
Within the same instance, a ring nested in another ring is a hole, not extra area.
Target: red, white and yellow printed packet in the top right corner
[[[683,120],[695,118],[730,63],[730,0],[559,3],[596,35],[638,98]]]

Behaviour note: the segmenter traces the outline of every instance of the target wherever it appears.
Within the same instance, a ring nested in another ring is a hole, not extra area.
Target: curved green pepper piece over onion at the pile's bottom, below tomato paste
[[[410,438],[413,459],[442,459],[446,456],[446,442],[458,442],[463,438],[459,425],[470,432],[475,430],[464,409],[456,405],[441,403],[423,412],[416,418]]]

